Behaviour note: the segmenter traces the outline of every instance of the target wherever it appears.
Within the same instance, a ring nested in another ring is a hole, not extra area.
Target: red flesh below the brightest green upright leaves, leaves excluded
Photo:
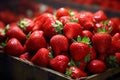
[[[89,51],[90,51],[89,46],[85,43],[73,42],[70,45],[71,57],[75,61],[84,60],[85,56],[89,53]]]

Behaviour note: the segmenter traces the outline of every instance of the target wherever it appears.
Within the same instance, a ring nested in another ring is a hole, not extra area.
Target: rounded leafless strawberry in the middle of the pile
[[[68,51],[69,42],[64,35],[54,35],[50,39],[50,45],[55,55]]]

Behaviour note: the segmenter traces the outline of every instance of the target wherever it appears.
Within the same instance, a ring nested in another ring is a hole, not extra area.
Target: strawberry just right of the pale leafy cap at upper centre
[[[76,39],[78,35],[82,35],[82,27],[76,22],[69,22],[64,25],[63,32],[68,39]]]

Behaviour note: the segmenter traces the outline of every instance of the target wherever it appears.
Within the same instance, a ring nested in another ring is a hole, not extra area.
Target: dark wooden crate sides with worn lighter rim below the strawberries
[[[115,76],[117,75],[117,76]],[[120,80],[120,68],[109,69],[80,80]],[[2,80],[72,80],[52,69],[39,67],[29,61],[0,53],[0,79]]]

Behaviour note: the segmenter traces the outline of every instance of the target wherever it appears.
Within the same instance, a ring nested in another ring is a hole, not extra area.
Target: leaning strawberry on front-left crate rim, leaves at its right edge
[[[50,61],[50,51],[46,48],[40,48],[32,57],[31,62],[36,65],[47,67]]]

